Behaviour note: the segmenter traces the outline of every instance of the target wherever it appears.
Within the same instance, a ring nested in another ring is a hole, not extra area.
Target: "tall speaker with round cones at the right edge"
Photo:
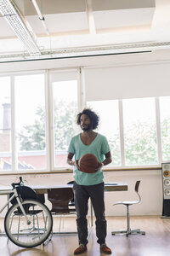
[[[163,189],[162,216],[170,217],[170,162],[161,164],[161,177]]]

